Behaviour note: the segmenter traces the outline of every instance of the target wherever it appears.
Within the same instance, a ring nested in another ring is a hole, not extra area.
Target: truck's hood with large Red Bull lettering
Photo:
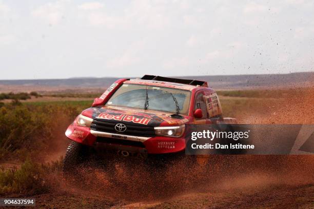
[[[82,112],[87,117],[110,122],[122,122],[138,126],[177,126],[189,121],[188,116],[182,115],[180,118],[173,118],[173,113],[141,110],[125,107],[97,107],[89,108]]]

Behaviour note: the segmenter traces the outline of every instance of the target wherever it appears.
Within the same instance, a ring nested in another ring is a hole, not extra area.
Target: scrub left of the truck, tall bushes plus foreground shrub
[[[70,122],[91,101],[13,101],[0,107],[0,163],[18,161],[18,168],[0,168],[1,195],[34,195],[52,187],[60,174],[62,159],[42,162],[41,155],[57,143],[67,142],[64,132]]]

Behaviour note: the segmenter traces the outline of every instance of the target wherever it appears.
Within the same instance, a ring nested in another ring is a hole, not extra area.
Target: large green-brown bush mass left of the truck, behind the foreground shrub
[[[35,152],[57,135],[87,107],[80,103],[41,105],[6,104],[0,108],[0,160],[19,150]],[[47,146],[46,146],[47,147]]]

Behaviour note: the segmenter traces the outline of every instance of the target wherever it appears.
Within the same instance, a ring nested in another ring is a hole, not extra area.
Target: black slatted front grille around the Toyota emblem
[[[127,130],[125,132],[117,132],[114,129],[114,126],[116,123],[121,122],[108,122],[103,121],[102,119],[95,118],[93,122],[91,123],[90,129],[94,131],[101,131],[101,132],[107,132],[107,133],[113,133],[113,134],[123,134],[123,135],[130,135],[130,136],[144,136],[144,137],[154,137],[155,131],[154,127],[148,127],[145,125],[136,125],[136,124],[128,124],[124,123],[127,127]]]

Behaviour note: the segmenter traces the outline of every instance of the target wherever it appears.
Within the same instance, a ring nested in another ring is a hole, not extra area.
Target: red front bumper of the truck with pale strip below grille
[[[173,138],[173,137],[164,137],[164,136],[155,136],[155,137],[144,137],[144,136],[129,136],[122,134],[113,134],[107,132],[100,132],[90,130],[88,127],[75,126],[71,124],[67,131],[66,136],[78,143],[86,144],[89,146],[94,146],[97,144],[97,138],[101,137],[103,142],[106,142],[106,138],[119,140],[128,140],[128,141],[138,141],[144,144],[145,149],[148,154],[165,154],[165,153],[175,153],[180,152],[185,149],[185,138]],[[132,145],[122,145],[121,149],[124,147],[132,147]]]

